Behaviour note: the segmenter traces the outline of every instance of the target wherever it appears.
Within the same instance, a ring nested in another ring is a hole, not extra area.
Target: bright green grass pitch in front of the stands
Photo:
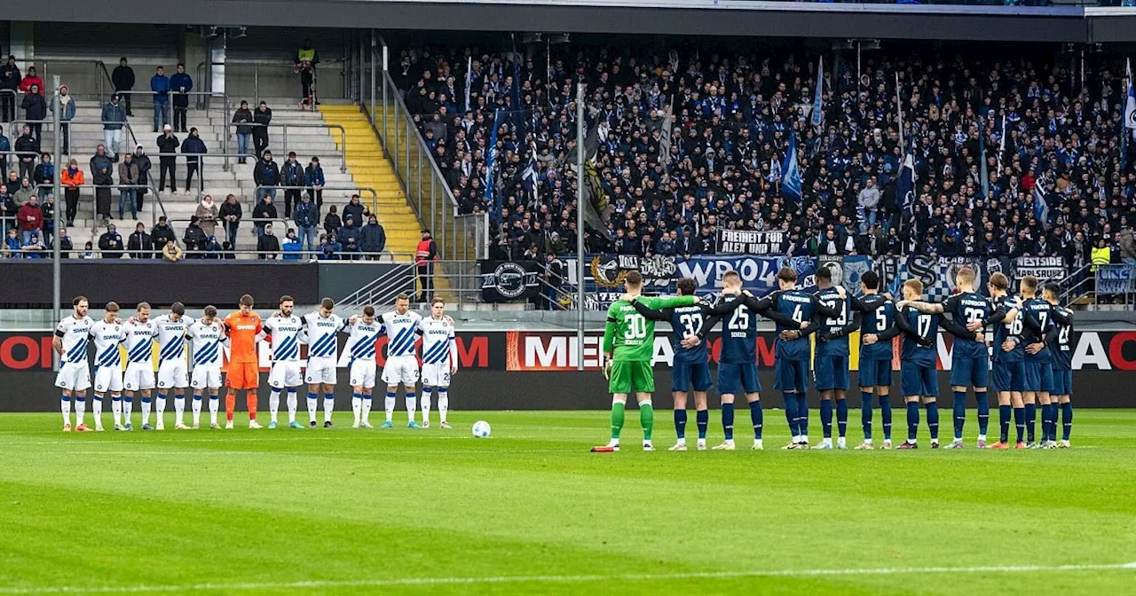
[[[2,414],[0,595],[1136,594],[1136,411],[1079,410],[1075,448],[1028,452],[668,453],[658,419],[661,451],[632,411],[625,451],[591,454],[605,412],[84,435]],[[766,444],[784,427],[769,412]]]

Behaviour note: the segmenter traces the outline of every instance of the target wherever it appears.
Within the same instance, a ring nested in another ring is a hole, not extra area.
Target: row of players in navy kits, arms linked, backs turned
[[[824,438],[819,448],[833,448],[833,413],[837,425],[836,448],[846,448],[849,420],[849,336],[860,330],[861,425],[863,442],[858,450],[874,448],[874,402],[878,398],[884,444],[892,448],[892,338],[902,337],[900,358],[901,393],[907,405],[908,438],[897,448],[918,448],[920,402],[926,409],[930,446],[938,442],[939,413],[936,373],[936,336],[943,328],[955,336],[951,367],[954,393],[954,439],[946,448],[963,446],[966,397],[974,391],[978,410],[977,446],[1010,448],[1011,413],[1018,448],[1068,447],[1072,427],[1072,311],[1058,304],[1059,287],[1046,284],[1041,297],[1038,282],[1025,277],[1019,295],[1010,297],[1009,279],[1001,272],[991,276],[989,299],[975,287],[975,271],[961,268],[957,274],[959,292],[943,302],[921,301],[922,283],[909,279],[902,285],[902,299],[893,301],[880,293],[879,277],[861,277],[862,297],[845,294],[833,286],[832,274],[821,268],[817,286],[796,288],[792,269],[777,274],[779,289],[757,299],[742,291],[741,276],[730,271],[722,278],[722,296],[717,304],[700,302],[692,307],[652,310],[640,302],[635,309],[653,320],[669,321],[675,360],[673,393],[675,430],[678,437],[670,451],[686,451],[686,404],[693,389],[698,423],[698,448],[705,448],[709,411],[707,391],[712,386],[708,367],[707,334],[721,320],[721,351],[718,391],[721,396],[721,423],[725,440],[715,450],[734,450],[734,401],[744,395],[753,425],[753,448],[761,450],[763,414],[761,383],[757,372],[757,316],[776,324],[775,385],[785,398],[785,418],[792,440],[783,448],[809,448],[809,404],[805,400],[810,369],[820,393],[820,421]],[[683,295],[694,294],[692,279],[678,283]],[[993,326],[993,379],[986,329]],[[808,336],[816,335],[816,353],[810,367]],[[993,383],[992,383],[993,381]],[[989,418],[987,389],[997,394],[1000,438],[987,445]],[[835,402],[835,404],[834,404]],[[1042,410],[1042,437],[1036,438],[1036,411]],[[1062,438],[1058,442],[1058,415]],[[1028,440],[1028,443],[1027,443]],[[817,447],[813,447],[817,448]]]

